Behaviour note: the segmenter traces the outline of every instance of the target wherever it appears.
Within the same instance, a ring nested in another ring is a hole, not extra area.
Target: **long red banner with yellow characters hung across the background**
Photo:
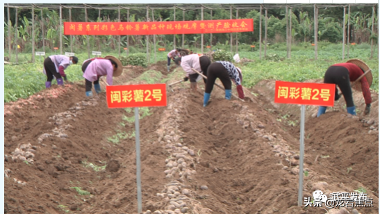
[[[65,35],[159,35],[254,31],[254,19],[178,22],[64,22]]]

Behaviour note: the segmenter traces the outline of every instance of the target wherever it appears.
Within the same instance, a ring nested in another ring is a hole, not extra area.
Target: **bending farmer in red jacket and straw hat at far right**
[[[348,60],[347,63],[338,63],[335,65],[331,65],[329,69],[327,69],[324,74],[324,83],[333,83],[336,84],[340,88],[340,91],[345,97],[347,113],[352,115],[356,115],[354,99],[352,98],[352,90],[351,90],[351,82],[356,81],[361,75],[363,75],[370,68],[361,60],[354,59]],[[358,83],[354,83],[352,88],[356,90],[361,90],[363,92],[363,96],[365,99],[365,115],[370,113],[371,110],[371,92],[370,85],[372,84],[372,74],[371,72],[367,72],[363,78],[358,81]],[[335,90],[335,100],[340,98],[338,94],[338,88]],[[317,117],[324,114],[326,112],[326,106],[320,106],[318,108]]]

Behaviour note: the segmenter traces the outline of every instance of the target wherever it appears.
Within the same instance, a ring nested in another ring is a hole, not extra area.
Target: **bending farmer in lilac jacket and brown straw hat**
[[[113,56],[106,56],[104,59],[94,58],[87,60],[82,66],[83,77],[85,78],[85,95],[92,96],[92,82],[97,94],[101,92],[99,78],[107,76],[108,85],[113,85],[113,76],[120,76],[123,66],[120,60]]]

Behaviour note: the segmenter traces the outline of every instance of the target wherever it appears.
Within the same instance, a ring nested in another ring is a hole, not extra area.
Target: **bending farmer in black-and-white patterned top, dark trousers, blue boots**
[[[211,63],[207,70],[207,83],[204,92],[204,107],[208,104],[211,91],[213,90],[214,83],[217,78],[219,78],[223,83],[226,99],[231,99],[231,79],[236,84],[236,90],[238,90],[239,98],[244,99],[241,69],[235,67],[235,65],[230,62],[216,61],[215,63]]]

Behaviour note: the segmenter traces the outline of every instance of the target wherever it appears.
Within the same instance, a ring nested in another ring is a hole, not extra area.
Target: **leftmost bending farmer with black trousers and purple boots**
[[[44,74],[47,75],[47,82],[45,82],[45,87],[51,87],[53,76],[56,77],[58,85],[63,85],[63,79],[67,81],[65,69],[69,67],[69,65],[76,63],[78,63],[78,58],[76,56],[68,57],[65,55],[53,55],[45,58]]]

